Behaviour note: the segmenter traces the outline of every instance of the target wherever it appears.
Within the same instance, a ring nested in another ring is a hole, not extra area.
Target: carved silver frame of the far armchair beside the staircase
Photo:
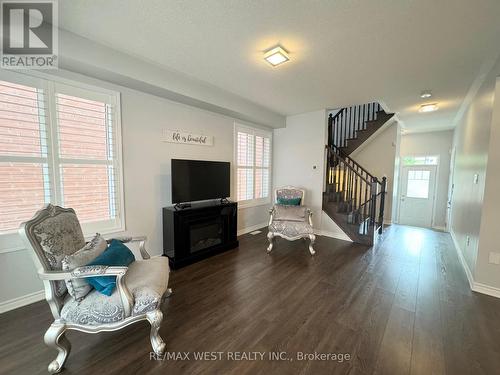
[[[313,213],[312,213],[311,209],[306,208],[306,212],[307,212],[306,220],[307,220],[307,223],[310,227],[310,229],[307,231],[307,233],[304,232],[304,233],[296,233],[295,235],[287,235],[286,233],[283,233],[282,231],[273,230],[273,226],[272,226],[272,224],[274,222],[276,204],[278,203],[279,197],[283,196],[283,197],[288,197],[288,198],[301,198],[300,205],[304,206],[305,195],[306,195],[306,191],[304,189],[301,189],[301,188],[298,188],[295,186],[291,186],[291,185],[277,188],[274,191],[274,199],[275,199],[274,203],[275,203],[275,205],[273,205],[273,207],[271,207],[271,209],[269,210],[269,224],[268,224],[269,232],[267,234],[267,239],[269,240],[269,246],[267,247],[268,253],[270,253],[273,250],[274,237],[278,236],[278,237],[284,238],[288,241],[295,241],[295,240],[298,240],[301,238],[309,239],[310,240],[309,252],[311,253],[311,255],[316,254],[316,251],[313,248],[314,242],[316,241],[316,236],[314,235],[314,233],[312,233],[312,215],[313,215]]]

